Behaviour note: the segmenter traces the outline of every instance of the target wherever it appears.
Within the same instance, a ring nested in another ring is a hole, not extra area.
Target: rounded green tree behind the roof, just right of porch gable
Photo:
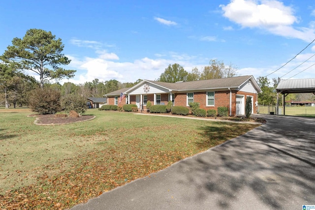
[[[167,83],[175,83],[179,81],[184,81],[188,76],[188,72],[184,70],[183,66],[178,63],[169,64],[167,68],[165,68],[164,73],[162,73],[158,81],[167,82]]]

